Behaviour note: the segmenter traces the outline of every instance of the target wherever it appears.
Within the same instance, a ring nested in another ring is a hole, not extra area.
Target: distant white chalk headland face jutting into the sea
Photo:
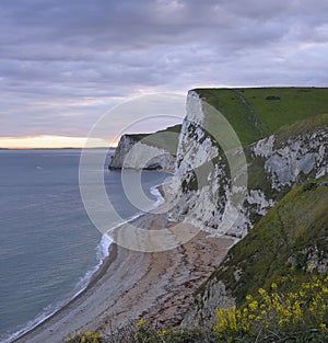
[[[109,169],[147,169],[173,171],[175,157],[163,148],[139,141],[133,135],[121,136]]]

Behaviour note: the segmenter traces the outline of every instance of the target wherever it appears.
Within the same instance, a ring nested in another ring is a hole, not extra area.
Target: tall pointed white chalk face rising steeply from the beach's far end
[[[187,116],[183,122],[172,194],[173,220],[186,221],[203,230],[227,233],[221,225],[225,205],[231,201],[229,161],[213,136],[207,130],[207,114],[198,94],[189,92]],[[235,218],[234,218],[235,219]],[[231,235],[242,236],[238,226]]]

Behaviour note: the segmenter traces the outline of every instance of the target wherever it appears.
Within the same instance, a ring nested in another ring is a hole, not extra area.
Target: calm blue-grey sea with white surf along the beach
[[[107,168],[113,150],[99,153],[106,155],[104,181],[122,222],[142,215],[125,196],[121,172]],[[80,149],[0,150],[2,343],[79,295],[108,255],[113,241],[94,227],[81,199],[80,155]],[[142,188],[154,206],[161,197],[155,186],[166,178],[142,172]]]

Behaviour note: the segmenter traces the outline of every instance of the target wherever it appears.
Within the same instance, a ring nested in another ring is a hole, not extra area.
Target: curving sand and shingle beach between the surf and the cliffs
[[[165,215],[144,215],[142,228],[166,228]],[[144,253],[112,244],[109,256],[87,288],[75,299],[14,342],[58,343],[80,330],[108,334],[144,318],[156,325],[178,324],[197,287],[212,273],[234,243],[199,232],[164,252]]]

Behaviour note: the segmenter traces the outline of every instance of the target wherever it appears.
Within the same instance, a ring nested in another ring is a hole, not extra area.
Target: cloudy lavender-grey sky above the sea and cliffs
[[[325,0],[1,0],[0,147],[81,146],[141,95],[327,87],[327,13]]]

